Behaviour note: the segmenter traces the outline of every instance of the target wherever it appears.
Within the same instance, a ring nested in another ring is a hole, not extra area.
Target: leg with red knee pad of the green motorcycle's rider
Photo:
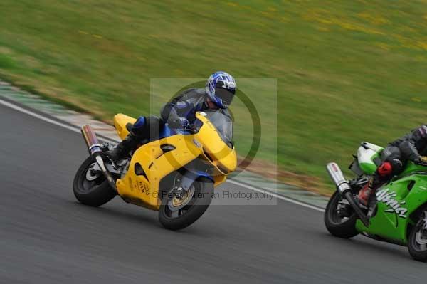
[[[364,188],[359,191],[359,201],[365,206],[368,205],[371,195],[381,184],[388,182],[391,177],[404,169],[398,147],[387,147],[384,152],[386,152],[386,156],[383,156],[384,162],[376,169],[375,174],[372,175]]]

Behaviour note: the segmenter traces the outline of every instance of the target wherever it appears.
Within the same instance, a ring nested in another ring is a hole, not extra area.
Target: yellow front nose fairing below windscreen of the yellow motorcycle
[[[237,167],[236,149],[231,149],[223,142],[216,127],[203,115],[197,112],[196,117],[203,122],[203,127],[194,135],[204,148],[204,155],[223,174],[233,172]]]

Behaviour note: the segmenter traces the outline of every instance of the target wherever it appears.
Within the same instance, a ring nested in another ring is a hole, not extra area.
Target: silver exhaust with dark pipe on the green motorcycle
[[[369,226],[369,219],[364,214],[362,209],[360,209],[357,202],[354,200],[352,194],[352,187],[349,185],[346,179],[344,179],[344,174],[342,174],[341,169],[339,169],[337,163],[329,163],[326,166],[327,172],[330,174],[330,177],[334,184],[337,186],[339,193],[349,201],[350,206],[354,209],[359,219],[364,223],[364,226]]]

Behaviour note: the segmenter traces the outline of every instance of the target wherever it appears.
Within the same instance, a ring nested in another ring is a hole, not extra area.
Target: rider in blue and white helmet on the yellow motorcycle
[[[185,129],[196,120],[196,112],[204,110],[219,110],[228,114],[228,105],[236,93],[236,81],[230,74],[218,71],[207,80],[205,88],[190,88],[167,102],[160,112],[160,117],[141,116],[132,125],[130,134],[122,140],[115,149],[107,154],[114,161],[120,161],[129,152],[137,149],[144,140],[158,139],[159,129],[165,123],[169,127]]]

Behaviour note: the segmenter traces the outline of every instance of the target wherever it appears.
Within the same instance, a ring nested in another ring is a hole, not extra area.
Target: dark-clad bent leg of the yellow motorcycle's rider
[[[129,135],[107,154],[115,162],[126,157],[131,151],[137,149],[138,144],[144,139],[155,140],[159,137],[159,117],[139,117],[132,125]]]

